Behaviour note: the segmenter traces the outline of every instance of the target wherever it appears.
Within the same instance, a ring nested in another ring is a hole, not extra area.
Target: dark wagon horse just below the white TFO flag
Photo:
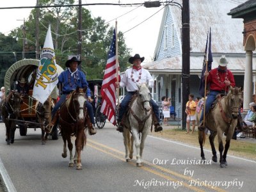
[[[47,127],[49,125],[49,117],[50,117],[51,104],[49,100],[45,100],[44,104],[41,102],[36,106],[36,118],[38,122],[41,124],[40,128],[42,131],[42,145],[45,145],[46,140],[48,139],[50,129]]]

